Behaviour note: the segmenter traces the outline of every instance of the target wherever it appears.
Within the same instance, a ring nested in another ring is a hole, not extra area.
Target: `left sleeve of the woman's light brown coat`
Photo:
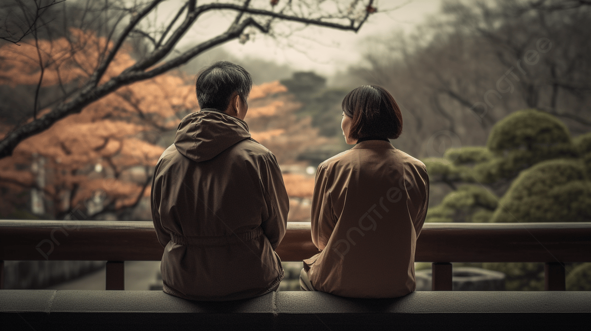
[[[329,173],[324,164],[320,164],[316,171],[310,221],[312,242],[322,251],[329,242],[330,235],[332,235],[336,225],[332,201],[330,200]]]

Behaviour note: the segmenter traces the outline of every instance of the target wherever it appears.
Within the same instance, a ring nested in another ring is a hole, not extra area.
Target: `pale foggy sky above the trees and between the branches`
[[[175,1],[168,2],[173,4]],[[378,12],[369,17],[361,30],[339,31],[322,27],[306,27],[294,32],[290,38],[272,38],[259,31],[251,34],[251,40],[240,44],[238,40],[220,46],[236,58],[261,58],[287,65],[294,70],[313,70],[324,76],[333,76],[349,65],[358,64],[364,51],[363,41],[383,36],[395,30],[410,32],[413,28],[439,11],[441,0],[381,0],[376,2]],[[159,18],[174,15],[168,8],[160,8]],[[213,33],[228,28],[231,14],[212,12],[197,20],[194,27],[180,41],[178,47],[190,47],[206,40]]]

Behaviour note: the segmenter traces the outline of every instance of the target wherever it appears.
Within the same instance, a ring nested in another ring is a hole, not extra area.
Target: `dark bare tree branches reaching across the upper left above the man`
[[[212,2],[197,5],[196,0],[184,1],[178,6],[177,14],[168,20],[163,28],[150,28],[154,25],[147,24],[157,13],[158,5],[163,0],[152,0],[142,4],[127,6],[124,1],[99,2],[103,6],[102,12],[109,12],[112,25],[103,25],[109,31],[103,31],[102,35],[107,42],[102,47],[97,47],[99,61],[91,72],[80,83],[82,88],[67,93],[67,97],[57,101],[43,116],[15,127],[0,142],[0,158],[11,155],[18,143],[27,137],[42,132],[54,122],[70,114],[79,113],[85,106],[96,101],[122,86],[158,76],[187,63],[191,58],[209,50],[212,47],[230,40],[239,39],[246,41],[249,37],[249,29],[255,29],[264,34],[273,34],[274,27],[281,22],[297,22],[304,25],[317,25],[320,27],[339,30],[358,31],[369,15],[376,11],[373,0],[354,0],[343,6],[339,1],[333,5],[327,5],[328,1],[261,1],[251,3],[251,0]],[[96,5],[87,0],[86,8],[89,12]],[[187,50],[174,52],[178,42],[186,35],[195,22],[210,12],[219,12],[233,15],[228,28],[215,37],[199,42]],[[85,13],[85,12],[83,12]],[[116,13],[116,16],[113,15]],[[153,21],[152,21],[153,22]],[[135,64],[123,68],[115,76],[106,76],[105,73],[113,65],[113,60],[125,47],[126,42],[132,38],[141,36],[149,41],[150,48],[135,62]],[[37,41],[37,39],[35,39]],[[35,42],[34,41],[34,42]],[[101,46],[101,45],[99,45]],[[73,54],[75,53],[73,50]],[[40,67],[43,68],[45,54],[39,54]],[[82,66],[81,66],[82,67]],[[43,75],[40,75],[39,86],[43,85]],[[65,91],[64,91],[65,92]],[[35,106],[36,107],[36,106]],[[37,107],[36,107],[37,108]]]

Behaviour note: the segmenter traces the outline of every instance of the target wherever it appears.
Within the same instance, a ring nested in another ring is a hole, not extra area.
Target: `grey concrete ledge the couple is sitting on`
[[[591,292],[285,291],[199,302],[161,291],[0,290],[2,330],[587,330]]]

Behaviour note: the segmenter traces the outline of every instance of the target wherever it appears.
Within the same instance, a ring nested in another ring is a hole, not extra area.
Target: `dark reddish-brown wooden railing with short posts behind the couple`
[[[163,251],[151,222],[0,221],[0,288],[4,261],[78,260],[108,261],[106,289],[124,290],[124,261],[160,261]],[[318,253],[310,223],[288,223],[277,253]],[[591,223],[428,223],[415,261],[433,263],[433,290],[452,290],[452,262],[543,262],[545,290],[565,290],[564,263],[591,261]]]

